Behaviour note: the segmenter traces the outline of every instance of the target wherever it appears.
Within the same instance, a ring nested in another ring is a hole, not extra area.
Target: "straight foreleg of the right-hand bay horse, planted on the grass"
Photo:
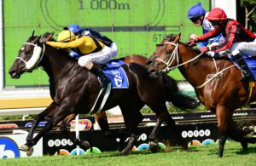
[[[228,130],[232,129],[232,112],[224,106],[217,106],[216,116],[218,117],[218,157],[223,157],[224,144],[227,140]]]

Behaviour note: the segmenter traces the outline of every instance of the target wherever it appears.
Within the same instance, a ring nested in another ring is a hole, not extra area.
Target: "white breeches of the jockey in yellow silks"
[[[102,51],[92,54],[86,54],[79,58],[79,66],[84,66],[88,61],[92,62],[93,64],[105,64],[111,58],[116,56],[118,49],[115,43],[112,43],[111,48],[108,46],[104,46]]]

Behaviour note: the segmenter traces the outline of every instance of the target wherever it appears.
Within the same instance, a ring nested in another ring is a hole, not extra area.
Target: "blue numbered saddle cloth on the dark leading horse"
[[[113,66],[102,69],[102,72],[111,80],[112,89],[128,89],[129,81],[121,66]]]

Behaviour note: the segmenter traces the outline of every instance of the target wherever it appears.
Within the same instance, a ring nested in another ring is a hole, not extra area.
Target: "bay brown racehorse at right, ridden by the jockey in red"
[[[194,87],[201,103],[218,117],[218,157],[223,157],[227,136],[241,142],[244,150],[247,143],[256,138],[246,138],[245,131],[237,129],[232,112],[245,105],[248,99],[248,82],[240,82],[241,71],[227,57],[212,59],[179,42],[180,34],[170,35],[157,45],[147,61],[151,77],[178,68],[183,77]],[[256,90],[249,102],[255,100]]]

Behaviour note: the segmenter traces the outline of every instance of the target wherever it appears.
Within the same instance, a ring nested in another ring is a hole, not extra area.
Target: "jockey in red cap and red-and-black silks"
[[[241,54],[256,54],[256,36],[253,32],[245,29],[236,20],[227,18],[223,9],[212,9],[206,17],[206,20],[212,23],[214,30],[207,32],[201,37],[196,37],[195,40],[189,42],[189,45],[191,46],[201,41],[207,41],[207,39],[217,37],[222,33],[224,43],[202,47],[200,49],[201,52],[213,52],[215,54],[219,52],[219,54],[224,54],[224,52],[228,51],[234,56],[237,64],[241,66],[241,72],[243,74],[241,81],[253,77],[253,73],[241,56]]]

